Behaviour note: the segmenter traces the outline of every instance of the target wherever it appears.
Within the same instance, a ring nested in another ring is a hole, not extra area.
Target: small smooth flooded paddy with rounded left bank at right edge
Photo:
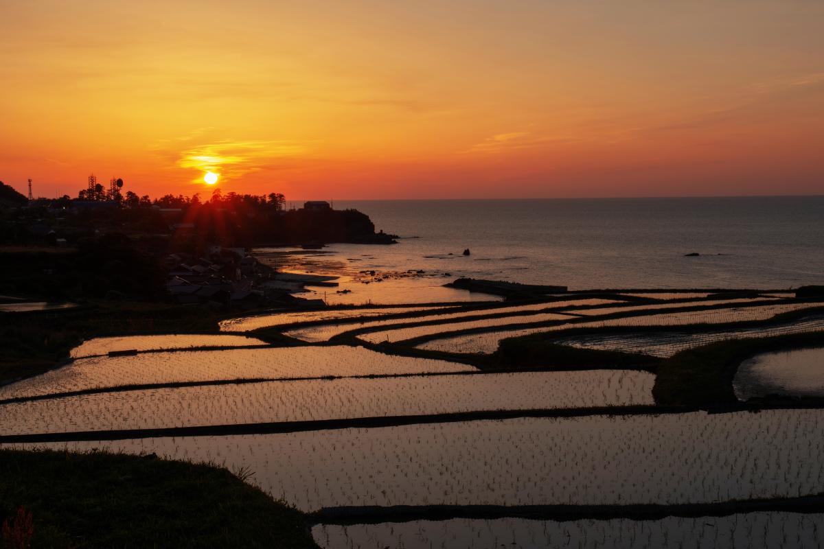
[[[753,356],[738,366],[733,388],[740,400],[770,394],[824,397],[824,348]]]

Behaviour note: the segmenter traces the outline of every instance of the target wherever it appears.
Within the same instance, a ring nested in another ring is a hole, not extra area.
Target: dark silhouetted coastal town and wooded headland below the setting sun
[[[31,194],[31,193],[30,193]],[[334,242],[392,244],[368,216],[325,201],[286,209],[282,193],[151,199],[90,175],[77,198],[32,198],[0,183],[0,246],[29,268],[4,293],[49,300],[170,301],[251,309],[296,300],[254,246],[321,248]],[[11,258],[11,256],[8,256]],[[76,260],[67,260],[74,258]]]

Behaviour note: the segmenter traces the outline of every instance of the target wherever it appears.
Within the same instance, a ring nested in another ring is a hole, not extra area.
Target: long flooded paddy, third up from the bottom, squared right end
[[[0,405],[0,435],[653,404],[654,376],[596,370],[303,380],[97,393]]]

